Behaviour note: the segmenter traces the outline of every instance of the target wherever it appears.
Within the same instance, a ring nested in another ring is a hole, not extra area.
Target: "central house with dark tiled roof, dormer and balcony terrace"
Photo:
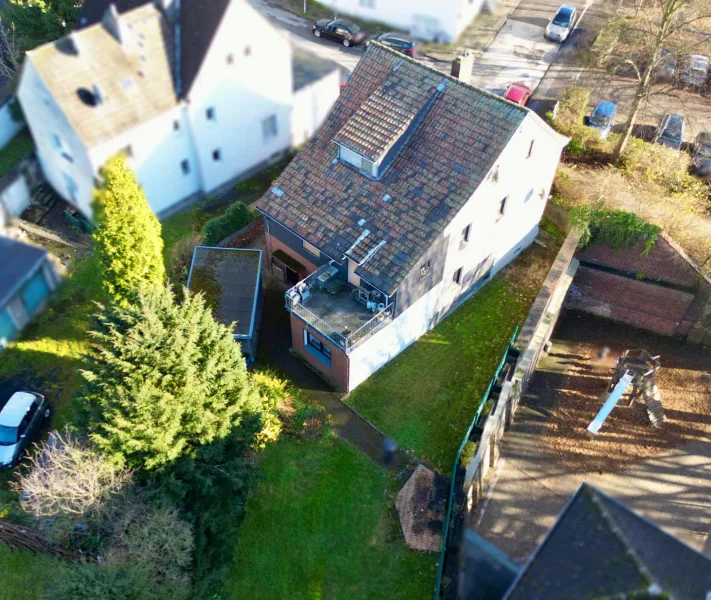
[[[292,345],[352,390],[531,243],[567,139],[373,43],[257,204]]]

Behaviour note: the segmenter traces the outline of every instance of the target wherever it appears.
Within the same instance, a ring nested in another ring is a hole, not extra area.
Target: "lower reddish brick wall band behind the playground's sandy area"
[[[694,294],[620,277],[580,265],[568,306],[662,335],[686,335],[692,322],[684,316]]]

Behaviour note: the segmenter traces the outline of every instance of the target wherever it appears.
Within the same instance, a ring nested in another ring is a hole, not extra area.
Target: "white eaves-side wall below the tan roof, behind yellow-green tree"
[[[92,148],[94,172],[98,173],[111,156],[129,146],[133,156],[128,156],[128,163],[136,172],[138,182],[156,214],[202,189],[185,105],[176,106],[160,117]],[[181,166],[184,160],[188,163],[187,173]]]

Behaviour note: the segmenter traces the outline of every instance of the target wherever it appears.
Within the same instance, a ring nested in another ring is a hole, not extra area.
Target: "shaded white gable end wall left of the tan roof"
[[[91,215],[94,171],[89,152],[54,101],[29,56],[22,69],[17,97],[45,178],[60,196],[85,215]]]

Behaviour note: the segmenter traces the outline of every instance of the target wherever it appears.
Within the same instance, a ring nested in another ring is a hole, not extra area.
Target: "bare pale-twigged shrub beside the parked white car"
[[[97,512],[130,481],[129,471],[116,468],[65,431],[53,432],[37,446],[12,485],[25,510],[49,517]]]

